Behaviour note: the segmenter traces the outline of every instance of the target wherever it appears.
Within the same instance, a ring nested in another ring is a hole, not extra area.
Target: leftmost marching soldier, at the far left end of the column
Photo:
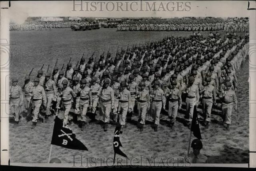
[[[10,86],[10,107],[11,114],[14,115],[14,124],[18,125],[20,107],[22,106],[21,87],[17,79],[13,79]]]

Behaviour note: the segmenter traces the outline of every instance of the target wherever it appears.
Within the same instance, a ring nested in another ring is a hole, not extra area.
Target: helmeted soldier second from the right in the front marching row
[[[205,78],[206,86],[202,90],[202,113],[205,117],[206,129],[209,127],[211,122],[212,104],[216,103],[215,88],[210,84],[212,79],[210,77]]]

